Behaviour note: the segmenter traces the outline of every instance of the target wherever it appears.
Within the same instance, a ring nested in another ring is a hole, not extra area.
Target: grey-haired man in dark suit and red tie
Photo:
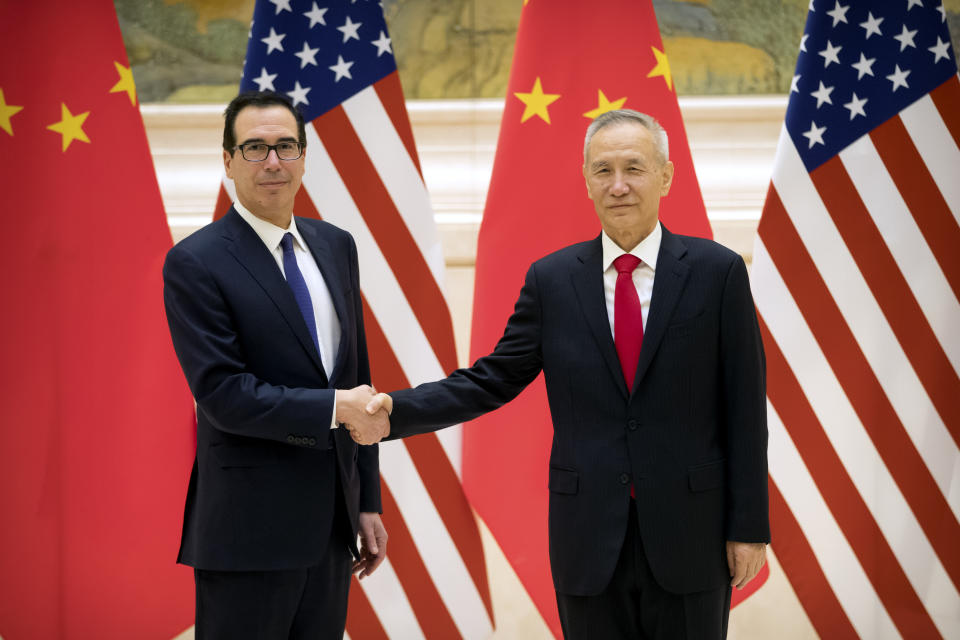
[[[542,370],[564,635],[723,638],[730,587],[757,574],[769,540],[765,364],[746,267],[660,224],[673,164],[653,118],[594,120],[583,175],[603,233],[533,263],[493,353],[392,393],[391,437],[491,411]],[[369,408],[381,405],[391,397]]]

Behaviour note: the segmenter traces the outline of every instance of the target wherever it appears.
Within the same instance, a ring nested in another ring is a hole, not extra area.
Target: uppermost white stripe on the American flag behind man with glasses
[[[360,138],[383,186],[400,212],[437,285],[443,287],[443,247],[433,220],[430,196],[393,121],[371,86],[343,102],[343,110]]]

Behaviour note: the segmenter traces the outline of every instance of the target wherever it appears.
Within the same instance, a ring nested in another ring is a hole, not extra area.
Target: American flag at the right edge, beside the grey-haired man
[[[751,279],[773,549],[823,638],[960,637],[958,143],[942,3],[812,0]]]

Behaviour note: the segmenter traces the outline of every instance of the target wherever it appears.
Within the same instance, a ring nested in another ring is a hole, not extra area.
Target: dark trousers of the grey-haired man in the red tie
[[[610,584],[595,596],[557,592],[567,640],[723,640],[730,615],[730,587],[675,594],[650,572],[630,500],[627,535]]]

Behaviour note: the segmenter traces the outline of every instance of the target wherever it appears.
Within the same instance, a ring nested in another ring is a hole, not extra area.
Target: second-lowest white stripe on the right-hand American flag
[[[911,586],[928,610],[939,609],[944,604],[954,610],[960,609],[960,594],[844,395],[820,345],[760,240],[754,247],[753,260],[757,309]],[[773,466],[771,464],[770,468]],[[806,513],[793,502],[788,502],[802,523]],[[834,508],[840,506],[834,505]],[[934,591],[937,593],[931,592],[931,585],[936,587]]]

